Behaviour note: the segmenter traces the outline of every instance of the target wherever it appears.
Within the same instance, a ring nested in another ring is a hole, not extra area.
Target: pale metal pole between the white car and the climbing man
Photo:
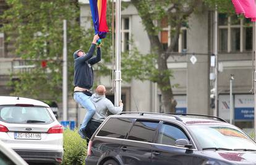
[[[63,121],[67,121],[67,20],[63,20],[63,75],[62,75],[62,105]]]

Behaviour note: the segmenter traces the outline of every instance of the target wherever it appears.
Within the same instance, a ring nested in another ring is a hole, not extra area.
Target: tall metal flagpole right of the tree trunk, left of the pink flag
[[[218,116],[218,11],[217,6],[215,9],[214,18],[214,54],[215,54],[215,109],[213,111],[213,116]]]

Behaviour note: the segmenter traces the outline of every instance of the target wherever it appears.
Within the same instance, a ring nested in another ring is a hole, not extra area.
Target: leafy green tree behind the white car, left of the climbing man
[[[27,60],[27,64],[35,65],[29,72],[13,75],[19,80],[10,82],[14,87],[12,95],[59,101],[62,93],[63,20],[67,20],[70,91],[73,90],[73,53],[77,49],[89,49],[93,30],[80,27],[80,6],[75,0],[6,2],[9,9],[1,15],[4,22],[2,30],[6,33],[7,41],[14,43],[12,53]],[[108,43],[103,42],[103,48],[109,48]],[[109,54],[107,51],[103,49],[103,54]],[[106,61],[110,59],[108,56],[103,58]],[[46,67],[41,67],[42,61],[47,62]],[[98,69],[102,68],[103,65],[98,66]]]

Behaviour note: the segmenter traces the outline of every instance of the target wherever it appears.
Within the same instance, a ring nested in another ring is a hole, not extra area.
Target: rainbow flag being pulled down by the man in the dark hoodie
[[[100,38],[105,38],[106,33],[108,32],[106,4],[106,0],[90,0],[95,35],[98,34]]]

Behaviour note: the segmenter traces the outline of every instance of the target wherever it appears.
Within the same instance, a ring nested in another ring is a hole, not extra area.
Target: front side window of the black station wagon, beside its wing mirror
[[[175,145],[175,141],[180,138],[189,140],[181,127],[176,124],[164,122],[159,130],[157,143],[163,145]]]

